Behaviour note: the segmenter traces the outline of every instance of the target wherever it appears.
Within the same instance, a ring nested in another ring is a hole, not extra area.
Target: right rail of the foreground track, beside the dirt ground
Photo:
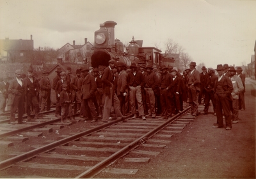
[[[115,154],[112,154],[111,156],[107,157],[103,161],[99,162],[92,168],[84,171],[84,173],[81,173],[80,175],[76,176],[75,178],[92,178],[93,176],[97,175],[102,169],[106,168],[111,162],[115,161],[116,159],[128,154],[131,150],[134,150],[134,148],[137,148],[140,145],[140,141],[145,141],[148,140],[148,138],[151,138],[154,134],[159,132],[161,129],[166,127],[166,125],[170,124],[173,122],[175,119],[177,119],[180,115],[188,111],[191,107],[189,106],[185,110],[183,110],[181,113],[178,113],[177,115],[174,115],[172,118],[169,120],[166,120],[163,124],[157,126],[156,128],[152,129],[151,131],[147,132],[147,134],[144,134],[140,138],[138,138],[135,141],[132,141],[128,145],[126,145],[124,148],[118,150],[115,152]]]

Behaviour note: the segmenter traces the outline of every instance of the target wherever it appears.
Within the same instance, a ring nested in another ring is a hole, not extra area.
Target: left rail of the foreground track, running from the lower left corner
[[[121,122],[121,121],[123,121],[123,120],[125,120],[129,117],[131,117],[131,115],[129,115],[125,118],[113,120],[113,121],[108,122],[108,123],[103,124],[103,125],[99,125],[97,127],[94,127],[93,129],[88,129],[86,131],[79,132],[77,134],[74,134],[74,135],[69,136],[67,138],[64,138],[62,140],[55,141],[53,143],[50,143],[50,144],[45,145],[45,146],[40,147],[40,148],[36,148],[36,149],[31,150],[29,152],[26,152],[24,154],[17,155],[15,157],[10,158],[10,159],[6,159],[5,161],[0,162],[0,171],[3,170],[3,169],[9,168],[10,166],[13,166],[13,164],[15,164],[15,163],[26,161],[28,159],[31,159],[31,158],[35,157],[36,155],[51,151],[54,148],[59,147],[61,145],[65,145],[65,144],[69,143],[70,141],[74,141],[74,140],[77,140],[77,139],[79,139],[83,136],[90,135],[93,132],[100,131],[100,130],[106,128],[106,127],[109,127],[110,125]]]

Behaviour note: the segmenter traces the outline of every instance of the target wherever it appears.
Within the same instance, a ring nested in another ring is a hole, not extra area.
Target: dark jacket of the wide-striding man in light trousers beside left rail
[[[114,78],[113,78],[113,73],[110,67],[108,66],[107,68],[104,69],[103,75],[102,75],[102,91],[103,93],[110,94],[110,88],[112,85],[114,85]]]

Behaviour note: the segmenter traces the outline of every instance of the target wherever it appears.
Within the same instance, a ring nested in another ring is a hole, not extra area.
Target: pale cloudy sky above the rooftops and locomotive
[[[99,24],[117,23],[124,44],[164,51],[172,39],[196,64],[247,66],[256,40],[256,1],[238,0],[0,0],[0,39],[30,39],[34,48],[94,42]]]

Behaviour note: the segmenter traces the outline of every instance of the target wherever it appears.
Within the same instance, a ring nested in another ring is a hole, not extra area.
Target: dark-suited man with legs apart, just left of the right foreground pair
[[[216,115],[216,103],[214,98],[214,83],[216,82],[218,76],[215,75],[215,70],[213,68],[208,68],[207,82],[205,85],[205,106],[204,111],[201,114],[207,115],[210,105],[210,100],[212,101],[214,115]]]

